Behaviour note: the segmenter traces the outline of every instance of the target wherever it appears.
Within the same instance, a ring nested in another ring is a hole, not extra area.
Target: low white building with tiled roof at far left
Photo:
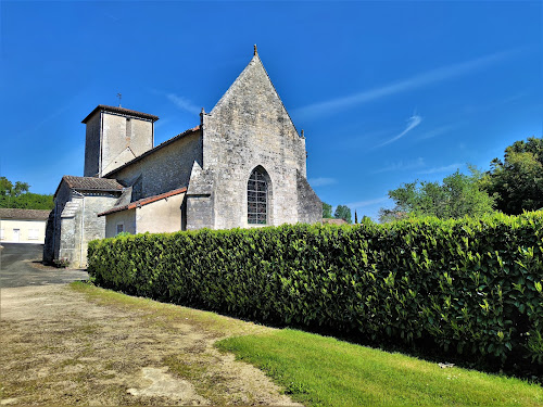
[[[49,213],[41,209],[0,208],[0,242],[43,244]]]

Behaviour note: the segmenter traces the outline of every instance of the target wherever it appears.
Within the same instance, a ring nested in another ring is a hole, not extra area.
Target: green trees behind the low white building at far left
[[[5,177],[0,177],[0,207],[16,207],[24,209],[52,209],[52,194],[28,192],[27,182],[16,181],[15,185]]]

